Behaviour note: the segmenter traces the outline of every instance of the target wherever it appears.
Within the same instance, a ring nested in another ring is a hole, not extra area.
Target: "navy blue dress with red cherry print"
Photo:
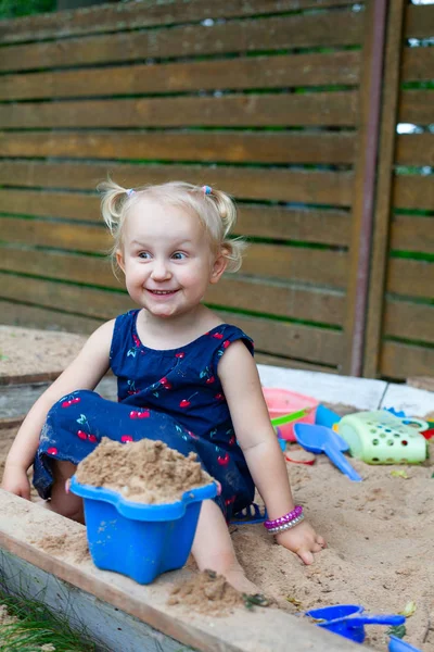
[[[238,446],[228,403],[217,374],[225,350],[253,341],[240,328],[221,324],[180,349],[144,347],[137,333],[139,310],[115,321],[110,353],[118,402],[78,390],[63,397],[47,415],[34,462],[34,485],[50,497],[51,460],[78,464],[102,437],[128,442],[162,440],[182,454],[197,453],[221,485],[215,500],[229,521],[251,504],[254,482]]]

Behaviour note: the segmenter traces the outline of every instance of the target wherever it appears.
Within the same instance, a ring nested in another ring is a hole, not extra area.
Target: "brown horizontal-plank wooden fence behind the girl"
[[[258,361],[432,374],[434,49],[417,46],[434,7],[390,2],[381,35],[381,4],[141,1],[1,22],[0,322],[89,333],[128,310],[95,186],[184,179],[238,201],[251,247],[206,300]]]

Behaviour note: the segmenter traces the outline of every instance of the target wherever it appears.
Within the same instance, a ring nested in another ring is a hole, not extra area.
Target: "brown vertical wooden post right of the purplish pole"
[[[368,287],[368,314],[363,344],[363,376],[374,377],[379,372],[382,338],[384,287],[386,283],[390,244],[393,164],[395,158],[396,121],[399,102],[400,54],[403,49],[405,0],[396,0],[390,8],[383,96],[381,140],[378,154],[378,183],[373,217],[372,254]]]

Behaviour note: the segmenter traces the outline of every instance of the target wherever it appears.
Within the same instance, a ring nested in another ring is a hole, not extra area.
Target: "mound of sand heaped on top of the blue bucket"
[[[148,504],[175,502],[184,491],[213,480],[202,469],[195,453],[186,457],[163,441],[119,443],[106,437],[79,463],[76,479]]]

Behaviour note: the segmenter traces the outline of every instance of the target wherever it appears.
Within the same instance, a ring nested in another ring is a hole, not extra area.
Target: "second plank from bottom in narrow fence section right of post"
[[[434,342],[434,305],[387,298],[384,309],[384,335]]]

